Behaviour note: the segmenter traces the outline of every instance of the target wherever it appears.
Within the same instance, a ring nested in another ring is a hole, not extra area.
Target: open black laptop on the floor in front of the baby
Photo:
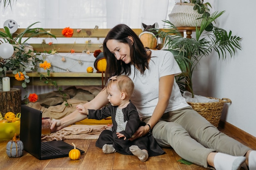
[[[74,146],[64,141],[41,142],[41,124],[42,111],[21,105],[20,140],[23,142],[24,150],[38,159],[68,157]],[[84,153],[83,150],[80,152]]]

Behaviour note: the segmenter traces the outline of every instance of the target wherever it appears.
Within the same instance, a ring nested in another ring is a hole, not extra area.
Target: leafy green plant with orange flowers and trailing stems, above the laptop
[[[63,95],[63,99],[66,102],[66,106],[69,104],[66,100],[66,94],[62,92],[62,89],[58,87],[57,82],[53,81],[49,78],[51,64],[47,61],[38,58],[38,55],[42,55],[45,58],[46,55],[51,55],[51,51],[44,51],[43,53],[39,53],[34,51],[33,47],[27,44],[27,41],[30,38],[40,37],[40,35],[49,35],[52,38],[56,38],[55,35],[50,33],[49,31],[45,31],[42,28],[31,28],[38,22],[35,22],[29,25],[26,29],[22,29],[20,33],[10,33],[9,28],[4,26],[4,31],[0,31],[0,45],[2,43],[9,43],[13,45],[14,53],[10,58],[4,59],[0,57],[0,73],[6,74],[8,71],[12,71],[15,75],[15,79],[17,81],[23,81],[22,87],[26,88],[27,83],[30,82],[29,76],[27,75],[27,71],[34,71],[40,75],[40,79],[44,80],[45,84],[51,84],[54,86],[61,95]],[[37,71],[38,67],[43,68],[47,71],[47,76],[45,74]],[[37,96],[34,94],[34,96]],[[27,99],[27,95],[24,97]],[[31,102],[31,100],[29,99]],[[32,100],[33,101],[33,100]],[[35,102],[34,100],[33,102]],[[27,103],[27,102],[25,102]]]

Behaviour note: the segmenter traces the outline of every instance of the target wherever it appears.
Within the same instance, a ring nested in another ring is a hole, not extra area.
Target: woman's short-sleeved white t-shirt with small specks
[[[131,74],[135,89],[130,98],[136,106],[139,116],[152,116],[158,102],[159,79],[166,75],[179,75],[180,67],[170,51],[151,50],[149,69],[142,75],[131,65]],[[171,97],[166,112],[189,106],[180,93],[180,88],[174,80]],[[166,113],[165,112],[165,113]]]

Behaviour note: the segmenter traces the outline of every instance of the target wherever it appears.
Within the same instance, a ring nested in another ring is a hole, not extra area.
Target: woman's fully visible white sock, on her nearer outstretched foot
[[[216,170],[239,170],[245,159],[245,157],[217,153],[214,157],[214,166]]]

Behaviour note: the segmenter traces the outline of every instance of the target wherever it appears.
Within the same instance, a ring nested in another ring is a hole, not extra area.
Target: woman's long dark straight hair
[[[133,39],[133,43],[128,36]],[[118,42],[128,44],[130,46],[131,63],[126,64],[122,60],[117,60],[115,55],[112,54],[107,48],[106,43],[108,40],[117,40]],[[148,59],[150,56],[147,55],[146,49],[144,48],[138,35],[125,24],[118,24],[108,32],[108,35],[103,42],[103,54],[107,60],[105,72],[106,81],[112,75],[130,75],[131,64],[136,67],[141,74],[144,73],[146,68],[148,69]]]

